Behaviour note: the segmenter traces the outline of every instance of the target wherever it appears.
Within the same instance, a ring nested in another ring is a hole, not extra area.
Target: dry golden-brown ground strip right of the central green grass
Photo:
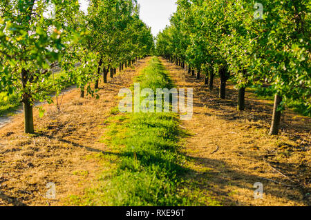
[[[310,118],[286,111],[281,134],[270,137],[272,101],[247,92],[246,110],[238,112],[233,86],[218,99],[218,79],[210,92],[204,79],[161,60],[176,87],[194,89],[194,117],[182,127],[191,133],[184,149],[194,163],[189,178],[202,193],[224,206],[310,206]],[[254,199],[257,182],[263,199]]]

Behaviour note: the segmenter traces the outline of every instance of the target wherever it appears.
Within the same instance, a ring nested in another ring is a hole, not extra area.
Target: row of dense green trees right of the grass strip
[[[278,134],[286,103],[311,114],[310,2],[308,0],[178,0],[171,25],[158,34],[158,54],[176,62],[213,88],[220,77],[238,89],[238,110],[245,88],[269,88],[275,96],[270,134]]]

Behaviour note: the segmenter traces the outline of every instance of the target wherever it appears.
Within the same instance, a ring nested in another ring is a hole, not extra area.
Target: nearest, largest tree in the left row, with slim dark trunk
[[[44,17],[49,3],[55,6],[55,18]],[[66,35],[59,17],[75,14],[75,1],[4,0],[0,2],[0,70],[6,80],[1,87],[16,92],[25,114],[25,132],[33,133],[32,106],[35,100],[50,101],[44,92],[50,68],[61,59]],[[68,40],[68,39],[66,39]],[[15,85],[12,87],[12,85]]]

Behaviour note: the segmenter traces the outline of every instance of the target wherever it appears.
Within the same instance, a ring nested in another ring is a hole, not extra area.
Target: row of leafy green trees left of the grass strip
[[[79,9],[73,0],[0,1],[0,91],[19,95],[26,133],[34,132],[34,101],[52,101],[46,88],[59,92],[70,81],[82,97],[95,94],[101,74],[106,83],[109,70],[113,77],[153,50],[137,1],[91,0],[88,13]],[[66,77],[51,85],[55,66]]]

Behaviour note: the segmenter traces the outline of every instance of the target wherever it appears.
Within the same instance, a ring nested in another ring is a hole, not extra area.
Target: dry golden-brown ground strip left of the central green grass
[[[71,194],[96,184],[106,169],[92,156],[106,150],[100,143],[104,121],[117,106],[120,88],[131,86],[149,59],[100,83],[100,99],[81,99],[74,89],[64,94],[60,113],[55,104],[44,104],[40,119],[35,109],[35,135],[23,134],[23,114],[1,128],[0,206],[64,206]],[[48,183],[55,183],[56,199],[46,199]]]

